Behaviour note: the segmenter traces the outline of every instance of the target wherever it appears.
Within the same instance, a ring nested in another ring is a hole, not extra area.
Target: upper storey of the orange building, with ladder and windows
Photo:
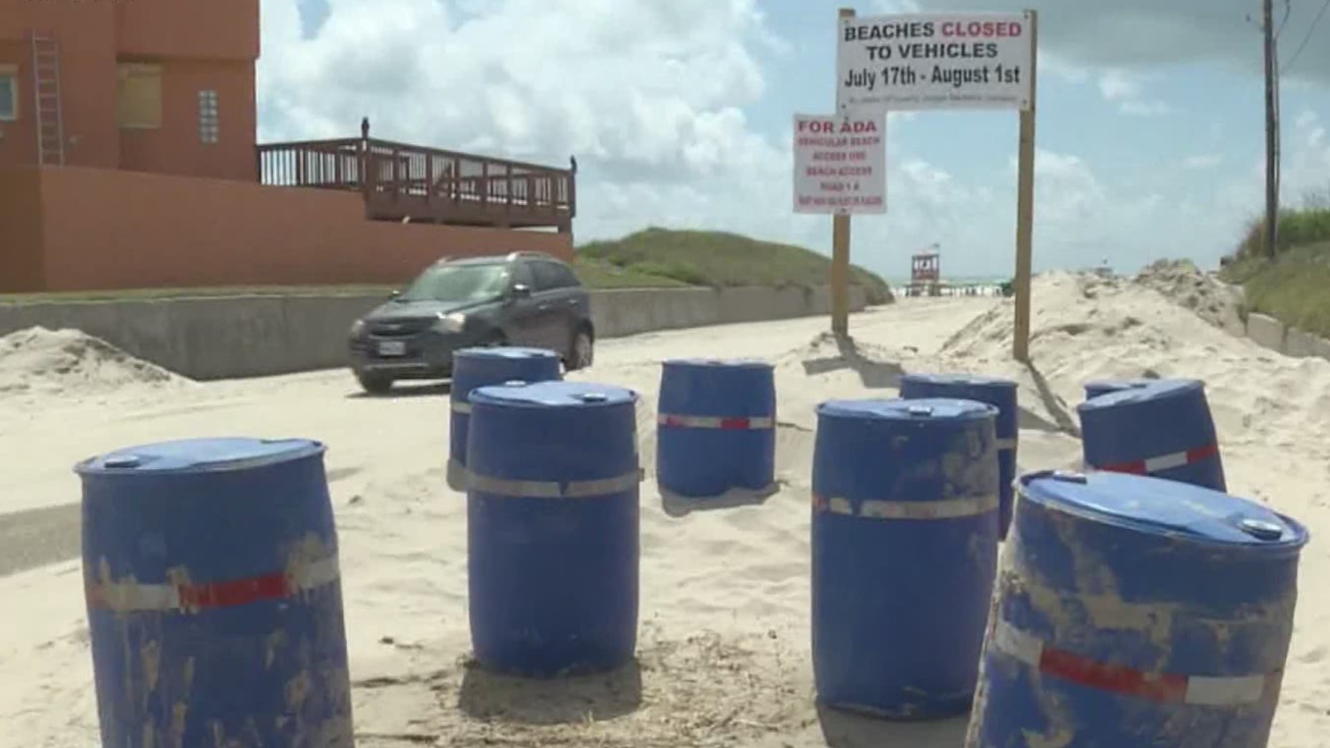
[[[258,180],[258,0],[4,4],[0,168]]]

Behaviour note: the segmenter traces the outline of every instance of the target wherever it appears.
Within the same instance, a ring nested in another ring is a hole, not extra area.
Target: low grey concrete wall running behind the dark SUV
[[[73,327],[194,379],[262,377],[346,365],[346,334],[380,295],[249,295],[0,305],[0,335]],[[851,289],[851,309],[864,307]],[[595,291],[597,335],[826,314],[827,289]]]

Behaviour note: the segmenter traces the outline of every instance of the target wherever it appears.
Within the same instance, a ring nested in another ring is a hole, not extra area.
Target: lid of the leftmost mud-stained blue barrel
[[[74,466],[80,475],[210,472],[246,470],[322,454],[325,446],[310,439],[254,439],[223,437],[178,439],[125,447]]]

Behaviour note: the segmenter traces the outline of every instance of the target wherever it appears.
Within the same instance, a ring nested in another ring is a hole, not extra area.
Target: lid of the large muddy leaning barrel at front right
[[[1295,550],[1307,530],[1221,491],[1124,472],[1044,471],[1020,478],[1021,500],[1108,524],[1202,544]]]

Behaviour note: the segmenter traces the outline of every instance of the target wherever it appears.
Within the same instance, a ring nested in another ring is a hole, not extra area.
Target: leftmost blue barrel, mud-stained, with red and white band
[[[105,748],[351,748],[323,451],[185,439],[74,467]]]

